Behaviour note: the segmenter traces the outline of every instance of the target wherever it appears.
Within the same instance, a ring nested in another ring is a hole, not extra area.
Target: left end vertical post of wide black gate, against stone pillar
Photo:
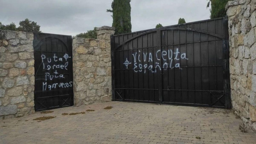
[[[110,44],[111,44],[111,68],[112,68],[112,101],[115,101],[115,39],[114,35],[110,36]]]

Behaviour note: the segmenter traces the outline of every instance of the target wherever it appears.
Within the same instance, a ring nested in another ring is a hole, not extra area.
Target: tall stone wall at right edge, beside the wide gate
[[[232,106],[256,130],[256,1],[229,1],[226,9]]]

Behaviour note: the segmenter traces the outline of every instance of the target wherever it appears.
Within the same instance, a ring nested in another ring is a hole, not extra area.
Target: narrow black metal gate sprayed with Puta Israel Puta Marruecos
[[[35,110],[73,106],[72,37],[34,33]]]

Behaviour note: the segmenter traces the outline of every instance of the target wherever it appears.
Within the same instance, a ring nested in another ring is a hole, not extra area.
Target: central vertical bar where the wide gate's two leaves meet
[[[157,29],[156,30],[156,33],[157,33],[157,47],[158,49],[160,50],[160,57],[161,57],[161,54],[162,54],[162,46],[161,46],[161,30],[160,29]],[[162,83],[163,83],[163,80],[162,80],[162,58],[160,58],[160,61],[159,61],[159,66],[160,66],[160,69],[159,69],[159,103],[162,104],[163,103],[163,87],[162,87]]]

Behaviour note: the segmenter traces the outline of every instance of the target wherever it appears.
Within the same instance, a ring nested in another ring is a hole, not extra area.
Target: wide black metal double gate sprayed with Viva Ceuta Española
[[[111,37],[113,100],[230,108],[227,17]]]

